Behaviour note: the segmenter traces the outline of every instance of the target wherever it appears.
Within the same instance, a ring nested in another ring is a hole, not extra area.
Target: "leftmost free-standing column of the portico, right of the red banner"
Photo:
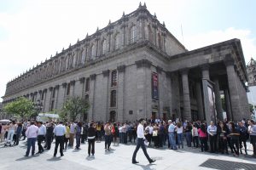
[[[183,118],[191,121],[191,106],[190,106],[190,98],[189,98],[189,77],[188,77],[188,69],[183,69],[181,71],[182,81],[183,81]]]

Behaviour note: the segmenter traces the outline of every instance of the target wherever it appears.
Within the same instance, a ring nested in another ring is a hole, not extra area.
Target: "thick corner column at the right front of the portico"
[[[240,104],[240,96],[238,92],[238,84],[237,84],[237,77],[236,71],[234,68],[234,59],[232,58],[231,54],[225,56],[225,65],[226,71],[228,75],[228,83],[230,89],[230,103],[231,103],[231,111],[233,115],[233,121],[241,121],[241,104]]]

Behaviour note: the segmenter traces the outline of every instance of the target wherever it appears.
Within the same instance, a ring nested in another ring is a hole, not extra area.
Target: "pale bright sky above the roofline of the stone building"
[[[239,38],[256,59],[256,1],[144,0],[148,11],[192,50]],[[0,0],[0,97],[7,82],[50,55],[119,20],[139,0]],[[0,99],[0,102],[2,99]]]

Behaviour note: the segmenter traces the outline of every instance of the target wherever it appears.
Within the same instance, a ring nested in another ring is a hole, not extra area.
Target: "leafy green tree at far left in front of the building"
[[[21,119],[31,117],[35,113],[33,102],[24,97],[20,97],[9,103],[3,108],[3,110],[8,114],[20,116]]]

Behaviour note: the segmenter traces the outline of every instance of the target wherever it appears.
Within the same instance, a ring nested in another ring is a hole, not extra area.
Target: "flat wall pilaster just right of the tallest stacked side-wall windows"
[[[117,90],[117,121],[118,122],[124,122],[125,121],[125,106],[124,106],[124,100],[125,100],[125,65],[119,65],[117,67],[118,70],[118,90]]]

